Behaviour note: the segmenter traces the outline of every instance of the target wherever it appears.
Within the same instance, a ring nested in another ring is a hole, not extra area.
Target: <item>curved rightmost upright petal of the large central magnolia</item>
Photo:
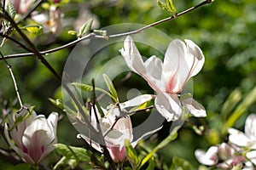
[[[201,51],[201,48],[199,48],[194,42],[188,39],[185,39],[184,41],[186,42],[188,48],[188,54],[190,55],[189,57],[194,58],[194,63],[190,70],[190,77],[194,77],[199,71],[201,71],[205,63],[205,57]]]

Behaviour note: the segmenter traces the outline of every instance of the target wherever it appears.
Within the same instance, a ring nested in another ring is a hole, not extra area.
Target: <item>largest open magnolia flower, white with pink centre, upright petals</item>
[[[143,62],[135,43],[128,36],[120,53],[131,71],[142,76],[157,92],[154,105],[168,122],[181,116],[183,106],[193,116],[206,116],[204,107],[195,99],[190,96],[180,100],[178,95],[189,78],[201,71],[204,65],[204,55],[194,42],[175,39],[166,50],[164,62],[156,56]]]

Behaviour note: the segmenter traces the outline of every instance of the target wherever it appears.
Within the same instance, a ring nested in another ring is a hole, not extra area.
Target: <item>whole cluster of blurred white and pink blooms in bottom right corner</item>
[[[206,152],[195,150],[195,157],[210,167],[231,169],[240,167],[244,170],[253,170],[256,166],[256,115],[247,116],[245,133],[235,128],[229,129],[229,144],[223,143],[211,146]]]

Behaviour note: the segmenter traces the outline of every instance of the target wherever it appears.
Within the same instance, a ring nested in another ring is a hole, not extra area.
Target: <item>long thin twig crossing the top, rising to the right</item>
[[[157,26],[157,25],[160,25],[160,24],[162,24],[162,23],[164,23],[164,22],[166,22],[166,21],[174,20],[174,19],[176,19],[177,17],[179,17],[179,16],[181,16],[181,15],[183,15],[183,14],[187,14],[187,13],[189,13],[189,12],[195,10],[196,8],[200,8],[201,6],[206,5],[206,4],[208,4],[208,3],[212,3],[212,0],[205,0],[205,1],[202,2],[202,3],[199,3],[198,5],[195,5],[195,7],[188,8],[187,10],[184,10],[183,12],[177,14],[176,16],[171,16],[171,17],[168,17],[168,18],[166,18],[166,19],[156,21],[156,22],[154,22],[154,23],[152,23],[152,24],[150,24],[150,25],[148,25],[148,26],[143,26],[142,28],[139,28],[139,29],[137,29],[137,30],[135,30],[135,31],[129,31],[129,32],[124,32],[124,33],[109,35],[109,36],[107,37],[107,39],[108,39],[108,38],[113,38],[113,37],[124,37],[124,36],[132,35],[132,34],[137,34],[137,33],[141,32],[141,31],[147,30],[149,27]],[[100,36],[100,35],[96,35],[95,33],[90,33],[90,34],[88,34],[88,35],[86,35],[86,36],[84,36],[84,37],[82,37],[82,38],[79,38],[79,39],[77,39],[77,40],[75,40],[75,41],[73,41],[73,42],[69,42],[69,43],[67,43],[67,44],[65,44],[65,45],[63,45],[63,46],[58,47],[58,48],[52,48],[52,49],[49,49],[49,50],[46,50],[46,51],[41,51],[41,52],[39,52],[39,54],[43,54],[43,55],[44,55],[44,54],[50,54],[50,53],[53,53],[53,52],[55,52],[55,51],[59,51],[59,50],[61,50],[61,49],[63,49],[63,48],[72,47],[72,46],[78,44],[79,42],[82,42],[82,41],[84,41],[84,40],[86,40],[86,39],[92,39],[92,38],[102,38],[102,39],[106,39],[105,36]],[[33,53],[26,53],[26,54],[9,54],[9,55],[6,55],[6,56],[4,56],[4,57],[5,57],[5,59],[13,59],[13,58],[21,58],[21,57],[33,56],[33,55],[35,55],[35,54],[33,54]],[[1,59],[0,59],[0,60],[1,60]]]

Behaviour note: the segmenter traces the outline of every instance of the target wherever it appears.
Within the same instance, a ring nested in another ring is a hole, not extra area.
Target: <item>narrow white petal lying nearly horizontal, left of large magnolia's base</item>
[[[124,103],[120,103],[121,108],[133,107],[137,105],[143,105],[144,103],[148,102],[149,100],[154,99],[154,95],[152,94],[143,94],[139,95],[133,99],[125,101]]]

